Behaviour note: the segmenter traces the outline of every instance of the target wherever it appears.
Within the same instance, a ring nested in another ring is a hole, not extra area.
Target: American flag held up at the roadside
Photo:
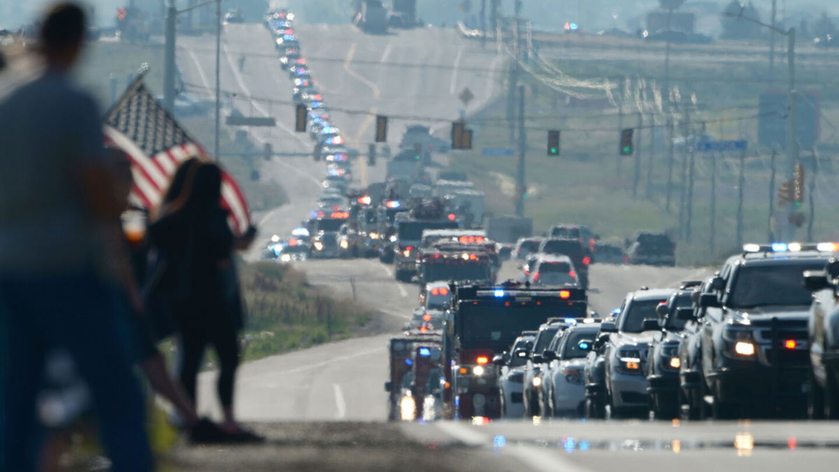
[[[105,141],[122,149],[132,161],[131,201],[152,209],[163,199],[169,180],[181,162],[209,155],[154,99],[140,75],[105,115]],[[238,233],[250,224],[248,202],[236,181],[223,173],[221,205]]]

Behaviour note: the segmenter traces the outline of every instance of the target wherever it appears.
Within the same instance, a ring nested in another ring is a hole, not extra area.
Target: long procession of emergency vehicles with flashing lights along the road
[[[272,236],[263,259],[378,258],[418,286],[382,359],[390,420],[839,418],[836,244],[746,244],[702,280],[638,286],[594,312],[591,266],[674,265],[670,236],[615,244],[576,223],[536,235],[529,218],[487,212],[465,173],[435,168],[449,146],[421,125],[393,157],[379,153],[384,181],[357,186],[360,154],[333,123],[291,18],[267,25],[326,176],[304,224]]]

